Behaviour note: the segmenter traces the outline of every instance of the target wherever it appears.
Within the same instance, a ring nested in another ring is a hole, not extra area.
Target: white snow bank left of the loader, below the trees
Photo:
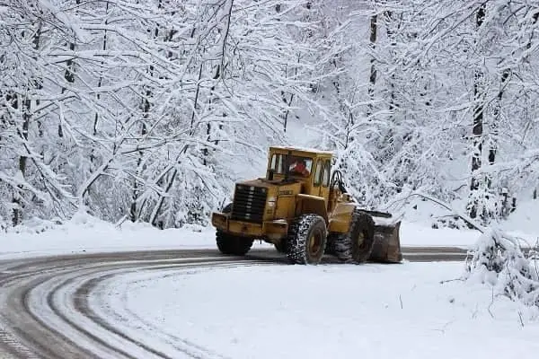
[[[104,222],[84,213],[66,223],[34,220],[0,233],[0,258],[83,252],[215,248],[215,235],[199,226],[158,230],[147,223]]]

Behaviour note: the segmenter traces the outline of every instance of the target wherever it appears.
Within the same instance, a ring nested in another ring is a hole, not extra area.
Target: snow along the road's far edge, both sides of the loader
[[[535,231],[536,206],[526,206],[522,215],[505,223],[511,233],[528,243],[535,244],[539,235]],[[526,219],[527,218],[527,219]],[[520,229],[519,229],[520,228]],[[213,228],[187,227],[157,230],[143,223],[124,222],[114,225],[84,214],[62,225],[36,222],[18,228],[18,232],[0,233],[0,258],[33,257],[51,254],[103,252],[122,250],[215,249]],[[480,233],[472,230],[448,228],[433,229],[427,221],[413,218],[401,226],[401,244],[416,246],[470,247]],[[270,244],[257,243],[255,247],[270,248]]]

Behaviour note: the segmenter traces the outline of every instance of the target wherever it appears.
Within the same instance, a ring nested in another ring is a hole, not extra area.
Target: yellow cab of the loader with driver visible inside
[[[302,183],[302,193],[323,197],[330,192],[330,152],[294,147],[270,147],[266,180],[278,184],[290,181]]]

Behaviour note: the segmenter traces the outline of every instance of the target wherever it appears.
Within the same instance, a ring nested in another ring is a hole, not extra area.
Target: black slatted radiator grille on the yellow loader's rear
[[[262,223],[268,190],[263,187],[236,185],[232,219]]]

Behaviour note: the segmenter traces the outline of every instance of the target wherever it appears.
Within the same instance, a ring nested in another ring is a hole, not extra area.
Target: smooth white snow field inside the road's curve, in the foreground
[[[492,301],[486,285],[452,281],[463,266],[148,271],[110,280],[94,303],[115,327],[164,352],[181,342],[238,359],[533,356],[537,312]]]

